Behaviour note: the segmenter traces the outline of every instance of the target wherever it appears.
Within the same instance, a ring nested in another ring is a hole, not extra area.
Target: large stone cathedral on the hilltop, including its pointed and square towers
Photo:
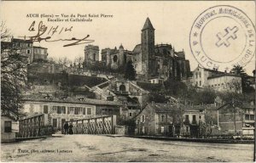
[[[142,29],[141,43],[133,50],[119,48],[102,49],[102,63],[111,69],[125,66],[131,60],[137,71],[138,80],[158,78],[166,81],[169,78],[183,80],[189,77],[189,60],[183,51],[176,52],[171,44],[154,44],[154,27],[147,18]],[[99,47],[87,45],[84,48],[84,63],[93,64],[99,61]]]

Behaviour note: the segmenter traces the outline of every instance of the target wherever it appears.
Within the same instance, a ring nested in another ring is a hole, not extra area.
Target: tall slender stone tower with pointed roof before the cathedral
[[[142,68],[146,78],[152,76],[150,70],[154,68],[154,27],[148,18],[142,30]]]

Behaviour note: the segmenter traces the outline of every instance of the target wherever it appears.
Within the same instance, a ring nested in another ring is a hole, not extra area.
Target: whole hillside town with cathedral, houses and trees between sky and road
[[[190,70],[189,52],[155,43],[154,32],[147,18],[133,49],[85,44],[73,61],[26,38],[1,42],[1,142],[34,134],[19,126],[41,115],[51,133],[64,133],[66,122],[84,133],[80,120],[112,116],[119,135],[253,139],[255,70]]]

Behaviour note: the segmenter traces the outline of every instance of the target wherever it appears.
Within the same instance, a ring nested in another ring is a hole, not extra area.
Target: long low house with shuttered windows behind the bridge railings
[[[120,115],[119,102],[90,98],[56,98],[42,94],[25,95],[23,112],[27,116],[49,114],[50,125],[61,129],[65,121],[95,118],[102,115]]]

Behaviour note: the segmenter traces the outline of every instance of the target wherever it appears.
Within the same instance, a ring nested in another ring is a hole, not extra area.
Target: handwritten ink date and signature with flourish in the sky
[[[37,28],[35,24],[36,24],[36,21],[33,21],[32,25],[30,25],[30,27],[28,28],[28,31],[35,31],[36,32],[35,36],[30,37],[32,42],[41,42],[41,41],[45,41],[45,42],[60,42],[60,41],[61,42],[71,42],[71,43],[63,45],[63,47],[70,47],[70,46],[73,46],[73,45],[79,45],[79,44],[94,42],[94,40],[89,40],[88,39],[90,37],[90,35],[87,35],[84,38],[72,37],[72,38],[65,38],[65,39],[61,38],[61,39],[52,40],[52,37],[54,35],[60,35],[63,32],[72,31],[73,26],[70,26],[68,28],[67,27],[64,28],[64,27],[59,27],[59,25],[56,25],[56,26],[51,26],[50,28],[48,28],[48,26],[43,24],[43,21],[40,21],[39,24],[38,24],[38,28]],[[58,31],[58,29],[60,29],[60,31]],[[46,32],[47,32],[47,34],[46,34]]]

